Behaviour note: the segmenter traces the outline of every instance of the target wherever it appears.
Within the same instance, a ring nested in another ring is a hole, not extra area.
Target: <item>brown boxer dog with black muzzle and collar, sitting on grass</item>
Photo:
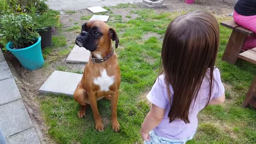
[[[89,62],[84,68],[84,74],[74,92],[74,99],[81,105],[78,117],[85,115],[86,105],[91,105],[95,129],[104,130],[104,125],[97,107],[97,101],[106,98],[111,100],[111,124],[115,132],[119,131],[117,120],[118,89],[121,74],[117,55],[112,47],[118,47],[118,37],[115,29],[103,21],[89,21],[82,26],[81,34],[76,38],[76,44],[91,51]]]

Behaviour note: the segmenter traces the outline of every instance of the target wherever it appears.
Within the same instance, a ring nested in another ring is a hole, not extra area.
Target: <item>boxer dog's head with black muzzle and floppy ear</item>
[[[103,49],[111,48],[111,39],[115,41],[117,48],[119,39],[115,29],[110,28],[103,21],[94,20],[84,23],[81,34],[76,38],[76,44],[91,52],[103,51]]]

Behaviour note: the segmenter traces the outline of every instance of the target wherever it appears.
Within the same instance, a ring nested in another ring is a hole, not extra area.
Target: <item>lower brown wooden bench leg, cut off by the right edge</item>
[[[243,102],[243,107],[247,107],[249,105],[256,108],[256,76],[254,77],[254,80]]]

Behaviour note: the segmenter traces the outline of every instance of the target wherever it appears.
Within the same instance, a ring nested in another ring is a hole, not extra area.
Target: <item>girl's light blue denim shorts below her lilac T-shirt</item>
[[[193,139],[194,135],[196,134],[196,132],[191,135],[188,138],[185,138],[183,140],[173,140],[173,139],[167,139],[167,138],[163,138],[163,137],[158,137],[154,131],[150,131],[149,135],[150,135],[150,140],[149,141],[144,141],[145,144],[185,144],[187,141]]]

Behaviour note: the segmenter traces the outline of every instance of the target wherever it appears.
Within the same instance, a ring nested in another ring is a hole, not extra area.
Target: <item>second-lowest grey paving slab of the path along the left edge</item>
[[[33,127],[26,107],[21,99],[0,106],[0,127],[5,137]]]

